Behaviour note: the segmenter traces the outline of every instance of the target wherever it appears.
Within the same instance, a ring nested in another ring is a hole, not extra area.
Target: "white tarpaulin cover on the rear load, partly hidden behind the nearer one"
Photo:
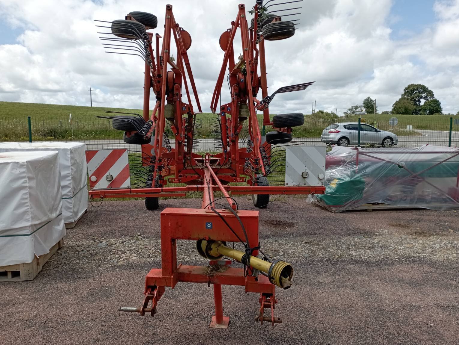
[[[88,209],[86,145],[82,142],[2,142],[0,152],[57,151],[61,169],[62,215],[73,223]]]

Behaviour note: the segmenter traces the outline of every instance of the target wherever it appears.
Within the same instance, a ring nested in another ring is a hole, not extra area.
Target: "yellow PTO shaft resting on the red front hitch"
[[[220,241],[199,240],[196,243],[196,248],[203,257],[209,260],[218,260],[225,256],[242,262],[242,257],[245,255],[244,252],[229,248]],[[249,265],[268,274],[269,281],[282,289],[288,289],[292,285],[293,267],[290,263],[281,260],[270,263],[251,256]]]

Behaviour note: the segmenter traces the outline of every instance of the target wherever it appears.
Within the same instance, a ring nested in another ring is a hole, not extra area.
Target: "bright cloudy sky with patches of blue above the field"
[[[0,101],[89,105],[92,87],[96,106],[141,108],[143,62],[104,53],[93,20],[146,11],[158,16],[154,32],[162,33],[171,3],[192,37],[188,54],[207,112],[223,58],[218,38],[240,2],[0,0]],[[390,110],[409,83],[431,88],[445,113],[459,110],[459,0],[304,0],[302,6],[295,35],[266,43],[268,85],[274,91],[316,83],[276,96],[272,113],[311,113],[316,100],[318,110],[337,108],[340,115],[367,96]],[[222,100],[229,101],[227,88]]]

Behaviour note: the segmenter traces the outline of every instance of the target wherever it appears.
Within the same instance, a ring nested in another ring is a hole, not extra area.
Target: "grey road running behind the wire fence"
[[[448,131],[428,131],[416,130],[421,133],[420,136],[400,136],[398,137],[399,147],[416,147],[424,144],[448,146],[449,132]],[[140,145],[132,145],[123,142],[123,140],[83,140],[86,143],[88,150],[106,149],[106,148],[128,148],[130,151],[140,151]],[[323,146],[320,138],[294,138],[293,142],[303,142],[308,146]],[[175,143],[171,143],[174,148]],[[451,146],[459,146],[459,131],[453,131],[451,137]],[[220,139],[197,139],[195,141],[194,150],[197,152],[204,151],[219,151],[221,147]]]

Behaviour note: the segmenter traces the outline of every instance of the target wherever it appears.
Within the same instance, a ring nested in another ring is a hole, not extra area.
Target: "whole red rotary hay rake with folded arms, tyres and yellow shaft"
[[[165,287],[174,288],[179,282],[213,284],[215,315],[210,326],[227,328],[229,317],[223,316],[221,285],[240,285],[245,287],[245,292],[260,294],[256,320],[262,324],[263,321],[270,322],[273,326],[281,322],[280,318],[274,317],[277,303],[275,286],[290,288],[293,268],[285,261],[271,260],[263,254],[259,242],[259,212],[238,209],[232,196],[252,195],[254,208],[266,208],[269,195],[322,194],[325,191],[323,186],[269,186],[267,179],[272,172],[272,146],[291,142],[291,127],[302,125],[304,121],[302,114],[276,115],[270,120],[269,104],[277,93],[304,90],[312,84],[292,85],[268,95],[264,42],[293,36],[296,24],[296,20],[282,20],[284,16],[295,13],[279,16],[269,12],[269,7],[300,1],[277,3],[270,0],[265,5],[263,1],[257,1],[251,11],[254,14],[251,26],[247,22],[245,5],[238,5],[235,21],[220,37],[220,47],[225,54],[213,93],[213,113],[217,109],[227,68],[231,101],[220,106],[216,117],[222,148],[218,154],[193,152],[196,115],[201,113],[201,106],[187,55],[191,38],[175,21],[172,5],[166,6],[163,36],[155,35],[156,56],[152,49],[153,34],[146,32],[157,26],[156,16],[130,12],[124,20],[101,22],[100,27],[111,30],[101,37],[104,46],[111,49],[108,52],[121,49],[117,52],[139,55],[145,61],[143,116],[113,114],[104,117],[112,120],[114,128],[124,131],[125,142],[142,145],[141,160],[147,178],[143,187],[91,190],[90,197],[145,197],[146,208],[153,210],[159,208],[160,197],[185,197],[187,192],[202,194],[200,209],[162,210],[162,267],[152,268],[146,275],[145,299],[141,306],[120,307],[119,311],[139,312],[142,316],[150,313],[153,316]],[[236,63],[233,40],[238,29],[243,54]],[[170,50],[173,39],[177,48],[176,60],[172,58]],[[123,44],[118,44],[120,42]],[[188,81],[197,112],[192,105]],[[182,87],[188,103],[182,98]],[[260,88],[263,98],[258,100],[256,97]],[[151,89],[155,93],[156,103],[149,114]],[[274,128],[266,136],[260,132],[257,111],[263,111],[263,126]],[[174,136],[174,146],[165,135],[167,123]],[[244,126],[248,131],[247,140],[241,139]],[[242,142],[244,145],[241,145]],[[246,183],[246,186],[241,186],[242,183]],[[214,197],[214,192],[221,192],[223,197]],[[209,264],[177,265],[178,240],[196,241],[197,251],[210,260]],[[230,248],[227,242],[240,242],[244,250],[236,250],[234,246]],[[235,261],[242,263],[243,267],[233,267]],[[269,316],[264,314],[266,308],[269,309]]]

